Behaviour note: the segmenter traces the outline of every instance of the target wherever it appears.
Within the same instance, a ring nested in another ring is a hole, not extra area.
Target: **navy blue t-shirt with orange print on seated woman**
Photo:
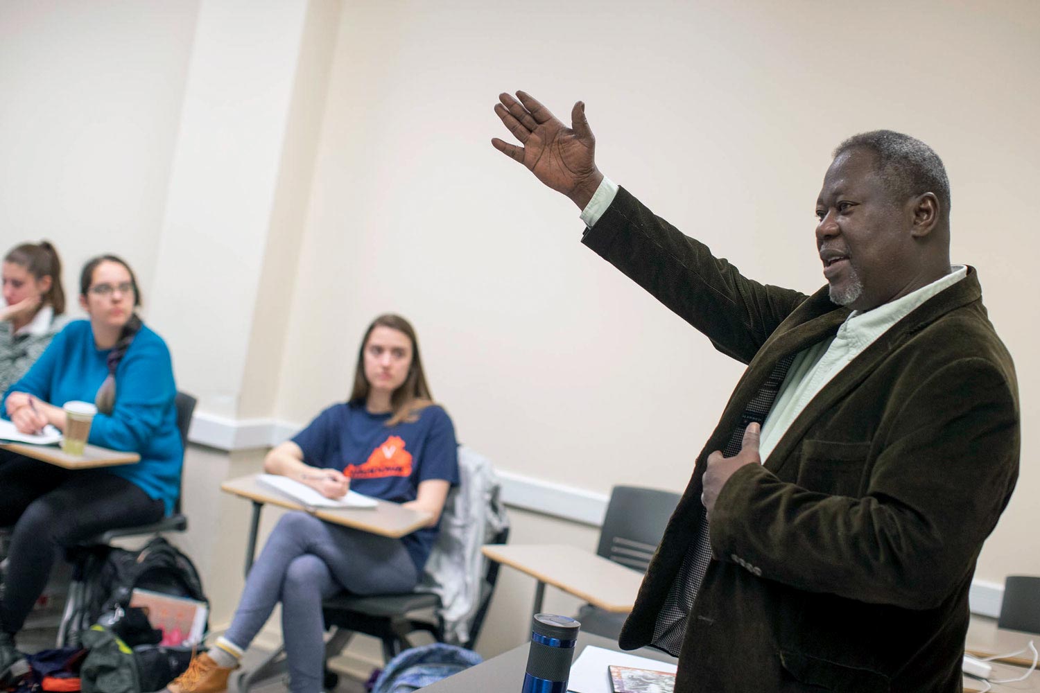
[[[447,411],[432,404],[413,422],[387,426],[389,420],[389,414],[369,414],[364,402],[333,404],[292,442],[311,467],[339,470],[350,477],[350,490],[384,501],[414,501],[428,479],[458,485],[459,452]],[[401,537],[420,574],[439,531],[440,522]]]

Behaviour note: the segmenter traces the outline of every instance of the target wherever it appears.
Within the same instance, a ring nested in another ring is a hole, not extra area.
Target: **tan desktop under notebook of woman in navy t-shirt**
[[[220,490],[251,501],[277,505],[289,510],[305,509],[300,503],[296,503],[288,496],[284,496],[268,486],[262,485],[257,481],[256,474],[225,481],[220,484]],[[430,519],[430,515],[424,512],[412,510],[411,508],[406,508],[389,501],[380,501],[374,508],[319,508],[311,514],[326,522],[392,538],[411,534],[423,527]]]

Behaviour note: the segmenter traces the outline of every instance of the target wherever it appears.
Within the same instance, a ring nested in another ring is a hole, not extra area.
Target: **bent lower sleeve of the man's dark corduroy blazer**
[[[939,606],[1011,497],[1017,398],[992,362],[962,357],[925,378],[894,421],[862,498],[809,491],[757,464],[737,470],[710,517],[716,552],[802,590]]]

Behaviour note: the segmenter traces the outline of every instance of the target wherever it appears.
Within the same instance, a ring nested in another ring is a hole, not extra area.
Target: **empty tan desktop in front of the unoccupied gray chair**
[[[488,544],[482,550],[509,565],[604,611],[632,610],[643,574],[602,556],[563,544]]]

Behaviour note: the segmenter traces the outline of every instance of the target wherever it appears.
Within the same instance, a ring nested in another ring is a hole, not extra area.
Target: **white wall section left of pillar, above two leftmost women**
[[[0,3],[0,252],[116,252],[151,298],[198,2]]]

